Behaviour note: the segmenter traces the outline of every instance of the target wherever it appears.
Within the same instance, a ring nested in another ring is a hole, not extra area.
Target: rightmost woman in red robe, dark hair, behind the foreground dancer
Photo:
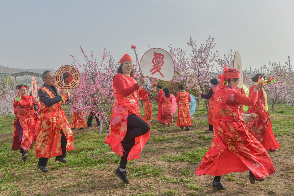
[[[255,82],[249,89],[249,97],[252,96],[253,90],[258,83],[259,76],[262,74],[256,74],[252,77],[252,81]],[[251,130],[251,134],[265,147],[266,150],[277,150],[281,146],[277,141],[273,133],[273,129],[270,123],[269,115],[267,111],[267,98],[266,92],[262,89],[258,91],[257,102],[254,106],[249,107],[247,114],[252,114],[256,118],[247,124],[247,127]]]

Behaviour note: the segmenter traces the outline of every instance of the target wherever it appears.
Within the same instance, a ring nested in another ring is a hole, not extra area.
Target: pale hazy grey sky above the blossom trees
[[[0,65],[57,69],[70,55],[84,63],[79,45],[117,60],[135,59],[132,44],[140,56],[148,45],[190,53],[190,35],[199,45],[211,35],[221,55],[239,50],[243,68],[283,63],[288,52],[294,65],[293,19],[290,0],[0,0]]]

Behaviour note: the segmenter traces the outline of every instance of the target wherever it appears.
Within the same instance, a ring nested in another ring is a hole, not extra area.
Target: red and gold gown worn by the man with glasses
[[[50,99],[55,97],[45,86],[41,86],[40,90],[48,94]],[[57,90],[59,91],[58,88]],[[65,95],[63,95],[63,100],[65,102]],[[36,137],[36,157],[51,158],[62,155],[60,130],[63,131],[67,138],[66,150],[74,150],[73,134],[65,113],[61,108],[61,103],[55,103],[50,107],[46,106],[41,99],[40,103],[40,124]]]

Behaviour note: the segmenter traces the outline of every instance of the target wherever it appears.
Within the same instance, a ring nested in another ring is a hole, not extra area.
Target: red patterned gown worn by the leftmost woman
[[[34,104],[34,97],[29,95],[22,96],[19,101],[14,100],[13,107],[15,108],[16,117],[14,119],[13,143],[11,150],[20,150],[20,148],[23,148],[27,151],[28,149],[32,149],[33,130],[35,128]],[[23,137],[21,141],[19,141],[19,133],[16,127],[17,120],[19,120],[19,124],[23,129]]]

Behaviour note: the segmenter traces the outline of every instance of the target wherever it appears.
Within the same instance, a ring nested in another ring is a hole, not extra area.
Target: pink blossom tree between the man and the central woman
[[[102,122],[106,124],[106,136],[110,129],[110,115],[114,103],[112,90],[112,78],[117,73],[119,63],[104,49],[100,62],[94,58],[93,51],[88,57],[82,47],[85,63],[80,64],[71,55],[74,61],[71,63],[80,73],[80,85],[73,89],[73,97],[77,97],[81,104],[70,105],[70,111],[84,111],[84,114],[92,111]],[[100,133],[102,132],[102,122]]]

